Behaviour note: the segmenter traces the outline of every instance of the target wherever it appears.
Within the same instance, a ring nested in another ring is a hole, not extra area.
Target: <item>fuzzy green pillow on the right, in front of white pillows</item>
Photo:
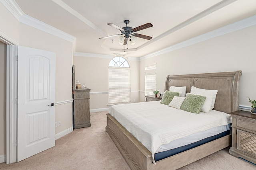
[[[186,99],[180,106],[180,109],[191,113],[200,113],[205,100],[205,96],[187,94]]]

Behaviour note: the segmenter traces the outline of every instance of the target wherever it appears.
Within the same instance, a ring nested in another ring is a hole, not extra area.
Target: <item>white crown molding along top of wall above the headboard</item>
[[[244,20],[237,21],[235,23],[231,23],[229,25],[226,25],[226,26],[221,27],[219,29],[215,29],[215,30],[210,31],[208,33],[204,33],[202,35],[199,35],[197,37],[188,39],[188,40],[183,41],[181,43],[174,44],[170,47],[164,48],[164,49],[156,51],[154,53],[150,53],[148,55],[140,57],[140,61],[145,60],[145,59],[149,59],[151,57],[155,57],[155,56],[158,56],[158,55],[161,55],[161,54],[164,54],[164,53],[168,53],[170,51],[181,49],[183,47],[188,47],[190,45],[194,45],[196,43],[200,43],[202,41],[206,41],[208,39],[212,39],[212,38],[218,37],[220,35],[231,33],[231,32],[234,32],[234,31],[238,31],[240,29],[244,29],[244,28],[250,27],[252,25],[256,25],[256,15],[251,16],[249,18],[246,18]]]

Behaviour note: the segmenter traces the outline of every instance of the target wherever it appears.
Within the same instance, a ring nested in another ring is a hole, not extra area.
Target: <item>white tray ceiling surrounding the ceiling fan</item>
[[[256,15],[256,0],[15,0],[24,14],[76,37],[76,52],[143,57],[176,43]],[[137,33],[135,45],[120,45],[119,27],[154,26]],[[114,41],[112,41],[112,39]],[[128,48],[128,49],[127,49]],[[124,52],[126,51],[126,52]]]

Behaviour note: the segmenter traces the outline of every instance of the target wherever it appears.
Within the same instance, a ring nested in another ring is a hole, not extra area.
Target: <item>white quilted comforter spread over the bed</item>
[[[160,101],[120,104],[108,111],[152,153],[176,139],[232,123],[227,113],[190,113],[160,104]],[[155,162],[154,162],[155,163]]]

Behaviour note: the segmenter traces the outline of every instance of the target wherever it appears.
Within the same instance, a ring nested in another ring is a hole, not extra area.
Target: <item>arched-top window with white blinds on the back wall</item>
[[[108,65],[108,104],[130,102],[130,66],[126,59],[114,57]]]

